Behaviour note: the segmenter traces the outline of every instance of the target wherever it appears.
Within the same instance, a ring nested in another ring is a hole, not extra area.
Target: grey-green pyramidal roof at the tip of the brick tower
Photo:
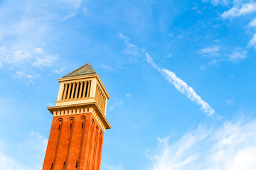
[[[63,78],[80,77],[80,76],[89,75],[89,74],[96,74],[96,72],[92,68],[91,64],[88,62],[82,67],[75,69],[73,72],[70,72],[69,74],[65,75]]]

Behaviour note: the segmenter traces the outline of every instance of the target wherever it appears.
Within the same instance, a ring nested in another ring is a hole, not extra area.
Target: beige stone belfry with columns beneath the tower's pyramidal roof
[[[97,74],[58,79],[60,89],[56,106],[96,103],[106,115],[107,99],[110,95]]]

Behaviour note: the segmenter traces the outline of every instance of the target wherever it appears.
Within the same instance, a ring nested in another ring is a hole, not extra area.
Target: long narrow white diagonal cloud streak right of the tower
[[[196,102],[198,105],[200,105],[203,113],[206,113],[208,116],[215,113],[215,110],[211,108],[210,105],[206,103],[206,101],[203,101],[203,99],[198,96],[198,94],[196,94],[191,86],[188,86],[185,81],[176,77],[176,74],[174,74],[174,72],[171,72],[168,69],[159,68],[147,52],[146,57],[146,61],[149,62],[149,64],[151,64],[151,66],[154,67],[157,71],[161,72],[164,78],[166,78],[171,84],[173,84],[178,91],[180,91],[182,94],[185,94],[189,99],[191,99],[191,101]]]

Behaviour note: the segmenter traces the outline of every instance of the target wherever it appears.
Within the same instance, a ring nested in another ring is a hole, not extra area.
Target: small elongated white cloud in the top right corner
[[[221,14],[221,17],[232,18],[232,17],[244,16],[246,14],[255,13],[255,12],[256,12],[256,3],[252,2],[249,4],[242,4],[241,8],[238,8],[237,6],[233,6],[233,8]]]

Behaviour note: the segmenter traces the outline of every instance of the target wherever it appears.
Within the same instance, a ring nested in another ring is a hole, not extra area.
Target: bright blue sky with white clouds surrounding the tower
[[[111,98],[102,170],[256,169],[256,1],[0,1],[0,169],[41,169],[59,78]]]

